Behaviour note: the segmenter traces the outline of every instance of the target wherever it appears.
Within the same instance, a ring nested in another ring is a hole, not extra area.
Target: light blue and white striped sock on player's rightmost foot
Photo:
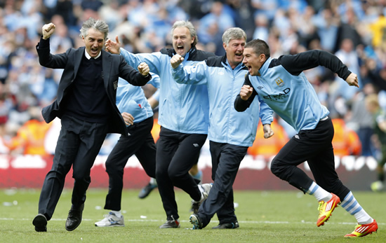
[[[357,222],[360,225],[373,222],[373,218],[371,218],[371,216],[368,215],[366,211],[364,211],[359,202],[355,199],[354,195],[352,195],[351,191],[346,195],[345,199],[340,205],[347,212],[357,218]]]

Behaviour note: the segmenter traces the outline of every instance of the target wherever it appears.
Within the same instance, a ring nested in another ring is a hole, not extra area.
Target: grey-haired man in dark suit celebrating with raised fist
[[[102,20],[86,20],[80,29],[85,46],[70,48],[58,55],[50,53],[49,37],[54,30],[53,23],[44,25],[43,36],[36,46],[42,66],[64,69],[57,99],[42,110],[46,123],[59,117],[62,129],[53,166],[41,189],[39,214],[32,221],[37,232],[47,231],[47,221],[58,204],[71,166],[74,188],[65,228],[72,231],[79,226],[86,190],[91,183],[91,167],[107,133],[130,135],[116,106],[118,78],[137,86],[145,85],[152,78],[147,64],[141,63],[137,71],[124,57],[102,50],[109,32]]]

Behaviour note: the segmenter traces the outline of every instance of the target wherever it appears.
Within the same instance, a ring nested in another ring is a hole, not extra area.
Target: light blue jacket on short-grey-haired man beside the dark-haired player
[[[209,57],[188,67],[180,64],[176,69],[171,68],[171,72],[178,83],[206,85],[208,88],[210,141],[252,146],[259,121],[256,116],[260,116],[262,124],[272,123],[273,111],[260,99],[260,102],[252,102],[244,112],[234,109],[234,99],[248,75],[244,64],[232,69],[226,56]]]

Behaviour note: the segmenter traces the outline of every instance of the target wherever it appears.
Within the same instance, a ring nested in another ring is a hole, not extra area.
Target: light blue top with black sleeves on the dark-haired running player
[[[320,103],[317,92],[303,71],[319,65],[331,69],[343,80],[351,74],[338,57],[323,50],[283,55],[278,59],[269,57],[259,70],[260,76],[246,77],[244,84],[251,85],[254,94],[246,102],[238,97],[236,103],[247,107],[245,104],[253,100],[254,95],[258,95],[296,132],[313,130],[330,111]],[[347,85],[347,89],[352,88],[355,87]]]

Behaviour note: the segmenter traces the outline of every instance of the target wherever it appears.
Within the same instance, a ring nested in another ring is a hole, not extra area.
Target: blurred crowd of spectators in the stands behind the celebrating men
[[[247,41],[267,41],[272,57],[327,50],[358,74],[360,88],[349,87],[324,67],[305,74],[331,111],[331,118],[338,120],[335,137],[339,132],[357,136],[350,141],[355,146],[345,145],[346,153],[375,156],[373,119],[364,99],[376,94],[386,109],[385,15],[386,0],[0,1],[0,153],[50,153],[27,148],[41,146],[54,126],[42,121],[40,111],[55,99],[62,72],[39,65],[35,46],[41,27],[48,22],[56,25],[51,53],[63,53],[67,48],[84,46],[79,29],[84,20],[93,17],[105,20],[109,38],[119,36],[123,47],[132,53],[171,46],[171,26],[176,20],[191,21],[199,36],[197,48],[216,55],[225,54],[222,33],[229,27],[244,29]],[[148,86],[144,89],[147,96],[154,92]],[[282,146],[294,135],[280,118],[276,125],[280,135],[262,142]],[[342,140],[345,137],[342,135]],[[260,140],[264,139],[258,138],[254,147]],[[264,151],[251,148],[249,153]]]

